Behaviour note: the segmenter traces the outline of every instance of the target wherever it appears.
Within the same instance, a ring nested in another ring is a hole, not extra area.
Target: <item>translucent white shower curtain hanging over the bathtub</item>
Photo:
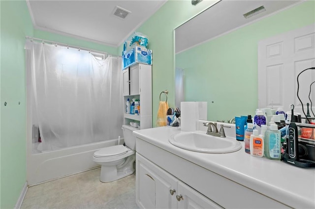
[[[27,43],[41,150],[56,150],[122,135],[121,58]]]

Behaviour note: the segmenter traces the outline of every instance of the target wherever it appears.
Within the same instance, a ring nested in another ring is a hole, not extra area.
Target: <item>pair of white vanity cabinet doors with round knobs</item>
[[[136,154],[136,202],[143,209],[218,209],[218,204]]]

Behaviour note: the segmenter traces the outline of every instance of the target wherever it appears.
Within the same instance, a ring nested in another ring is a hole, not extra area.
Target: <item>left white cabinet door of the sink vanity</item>
[[[177,208],[177,182],[173,176],[136,154],[136,203],[140,208]]]

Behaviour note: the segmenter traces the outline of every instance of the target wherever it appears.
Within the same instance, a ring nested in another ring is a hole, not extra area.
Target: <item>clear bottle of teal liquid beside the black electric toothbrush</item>
[[[265,132],[265,157],[269,159],[281,158],[281,131],[277,124],[271,124],[270,130]]]

